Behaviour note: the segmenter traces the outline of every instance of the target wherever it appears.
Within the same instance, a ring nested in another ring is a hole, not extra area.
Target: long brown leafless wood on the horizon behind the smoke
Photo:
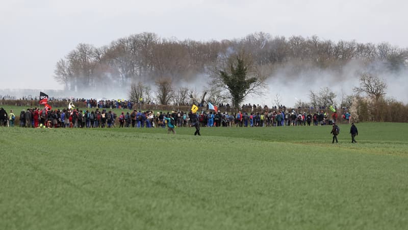
[[[286,65],[293,76],[298,76],[316,67],[342,71],[353,60],[367,69],[380,66],[390,72],[398,72],[408,63],[408,50],[389,43],[333,42],[317,36],[273,37],[262,32],[221,41],[177,40],[140,33],[100,48],[78,44],[57,62],[55,80],[66,90],[123,88],[163,78],[177,85],[199,80],[210,73],[219,58],[236,52],[249,54],[266,76]]]

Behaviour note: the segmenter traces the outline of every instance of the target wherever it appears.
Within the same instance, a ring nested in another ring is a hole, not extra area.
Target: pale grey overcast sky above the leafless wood
[[[13,0],[0,6],[0,89],[63,89],[56,62],[78,43],[95,47],[153,32],[180,40],[317,35],[408,47],[408,1]]]

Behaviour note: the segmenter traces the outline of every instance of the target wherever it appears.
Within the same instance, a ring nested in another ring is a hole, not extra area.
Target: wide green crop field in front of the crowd
[[[357,126],[0,127],[0,229],[406,229],[408,124]]]

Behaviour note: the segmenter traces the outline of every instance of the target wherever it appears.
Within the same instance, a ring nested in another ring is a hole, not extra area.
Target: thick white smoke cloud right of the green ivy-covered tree
[[[372,66],[370,66],[372,67]],[[394,98],[404,104],[408,104],[408,94],[405,89],[408,86],[408,72],[401,71],[392,73],[385,71],[382,66],[376,66],[378,77],[388,84],[388,98]],[[340,105],[342,96],[352,95],[353,88],[360,84],[359,77],[366,67],[359,61],[350,61],[340,70],[323,70],[313,66],[303,66],[300,71],[294,73],[294,66],[287,63],[279,67],[267,80],[268,89],[264,96],[250,96],[244,104],[260,104],[274,106],[276,94],[282,99],[282,105],[294,107],[298,102],[310,102],[310,91],[318,92],[321,88],[328,87],[336,95],[336,103]],[[380,70],[379,70],[380,68]],[[381,71],[383,70],[383,71]]]

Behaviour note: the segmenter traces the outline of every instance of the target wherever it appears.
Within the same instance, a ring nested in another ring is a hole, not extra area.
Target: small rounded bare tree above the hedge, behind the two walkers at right
[[[387,83],[377,76],[363,73],[360,75],[360,87],[354,87],[353,90],[357,94],[364,93],[375,99],[375,101],[378,101],[378,99],[387,94]]]

